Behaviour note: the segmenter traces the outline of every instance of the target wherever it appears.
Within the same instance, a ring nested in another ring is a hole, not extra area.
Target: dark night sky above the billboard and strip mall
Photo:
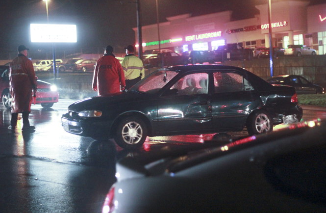
[[[137,27],[133,0],[50,0],[49,24],[77,26],[77,43],[56,44],[57,50],[125,47],[134,44]],[[266,1],[266,0],[265,0]],[[272,0],[273,1],[273,0]],[[158,0],[159,21],[191,13],[192,16],[233,10],[233,20],[251,18],[258,12],[254,5],[264,0]],[[312,4],[325,0],[311,0]],[[142,26],[156,23],[156,1],[140,0]],[[48,50],[49,44],[31,43],[29,25],[47,24],[43,0],[1,0],[0,53],[16,52],[25,44],[32,50]]]

